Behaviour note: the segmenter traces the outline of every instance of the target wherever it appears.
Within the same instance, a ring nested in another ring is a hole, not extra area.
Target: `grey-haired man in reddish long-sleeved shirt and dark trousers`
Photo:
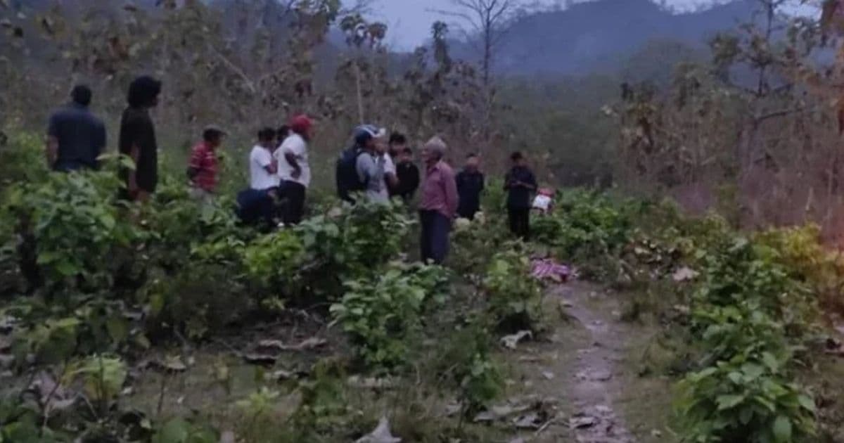
[[[457,211],[457,184],[454,171],[443,159],[446,143],[441,138],[431,138],[422,148],[425,161],[425,182],[419,203],[419,220],[422,225],[419,240],[424,262],[441,264],[448,255],[448,235]]]

